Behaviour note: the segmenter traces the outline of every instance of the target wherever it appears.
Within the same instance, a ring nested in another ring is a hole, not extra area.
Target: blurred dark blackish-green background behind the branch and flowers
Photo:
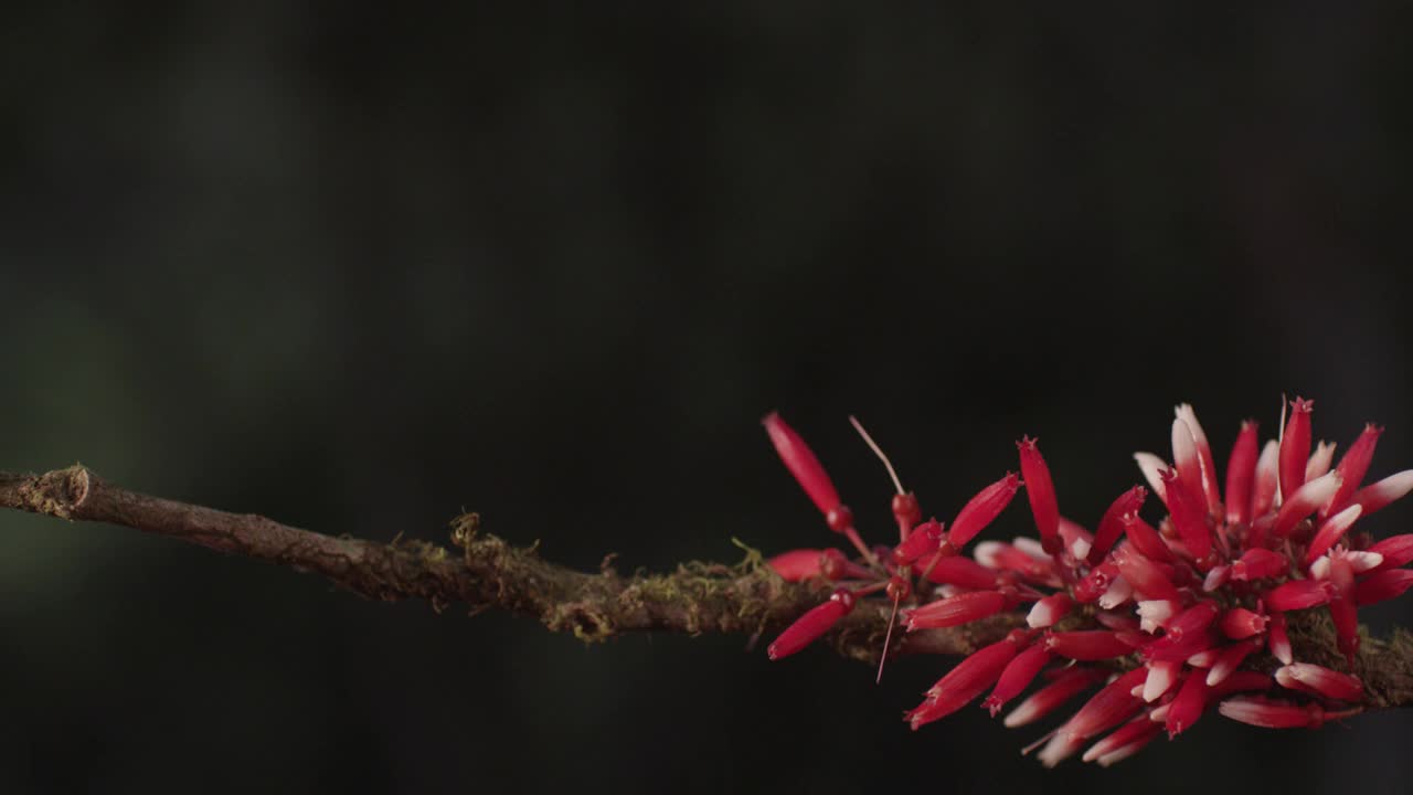
[[[623,569],[950,516],[1039,434],[1092,522],[1195,403],[1413,465],[1407,11],[365,11],[0,25],[0,467],[332,533],[462,508]],[[1023,502],[1022,502],[1023,505]],[[1413,508],[1365,525],[1406,529]],[[999,530],[1030,532],[1020,506]],[[1399,608],[1375,622],[1386,627]],[[1407,608],[1403,620],[1413,622]],[[1389,791],[1413,721],[1207,716],[1043,771],[981,710],[743,639],[585,648],[127,529],[0,516],[0,791]]]

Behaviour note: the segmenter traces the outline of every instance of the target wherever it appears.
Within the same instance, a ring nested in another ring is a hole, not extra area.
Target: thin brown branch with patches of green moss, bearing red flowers
[[[137,494],[82,465],[42,475],[0,472],[0,508],[68,521],[107,522],[208,549],[315,571],[367,598],[421,598],[437,610],[465,604],[472,613],[500,608],[537,618],[551,631],[585,641],[627,632],[731,632],[753,639],[771,634],[821,601],[824,586],[786,583],[759,555],[743,563],[685,563],[663,574],[620,576],[605,560],[599,571],[577,571],[485,533],[475,513],[452,522],[452,547],[328,536],[254,513],[229,513]],[[828,635],[841,655],[876,662],[887,610],[861,604]],[[890,654],[964,655],[1022,624],[1000,615],[955,629],[897,634]],[[1291,624],[1297,656],[1338,666],[1327,620]],[[1373,707],[1413,706],[1413,637],[1365,638],[1355,665]]]

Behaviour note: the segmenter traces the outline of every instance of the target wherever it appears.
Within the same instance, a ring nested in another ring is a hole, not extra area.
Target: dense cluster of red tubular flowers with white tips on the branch
[[[1375,543],[1349,530],[1413,491],[1413,470],[1361,487],[1383,429],[1366,426],[1332,465],[1332,444],[1311,451],[1313,407],[1297,398],[1287,417],[1283,406],[1280,434],[1265,446],[1256,423],[1242,423],[1219,488],[1207,436],[1191,406],[1178,406],[1173,463],[1136,453],[1147,488],[1121,494],[1094,532],[1060,513],[1050,470],[1030,437],[1016,444],[1020,477],[1007,472],[982,488],[950,529],[923,521],[916,495],[855,422],[897,489],[892,508],[899,543],[892,547],[863,542],[818,458],[771,413],[764,426],[776,451],[856,555],[800,549],[770,560],[786,580],[836,583],[828,601],[770,644],[770,659],[825,635],[870,596],[890,601],[892,617],[909,632],[961,627],[1029,605],[1024,628],[965,658],[904,717],[920,729],[988,689],[981,706],[995,716],[1040,680],[1006,714],[1005,724],[1017,727],[1098,687],[1031,745],[1043,745],[1037,755],[1046,765],[1087,744],[1085,761],[1109,765],[1164,729],[1176,737],[1212,706],[1272,729],[1313,729],[1355,714],[1365,699],[1354,675],[1355,611],[1413,587],[1413,570],[1405,567],[1413,562],[1413,535]],[[1022,485],[1039,540],[983,540],[964,556]],[[1150,492],[1167,511],[1156,525],[1140,516]],[[1290,622],[1313,610],[1328,611],[1345,671],[1296,659]],[[885,639],[885,658],[889,645]]]

